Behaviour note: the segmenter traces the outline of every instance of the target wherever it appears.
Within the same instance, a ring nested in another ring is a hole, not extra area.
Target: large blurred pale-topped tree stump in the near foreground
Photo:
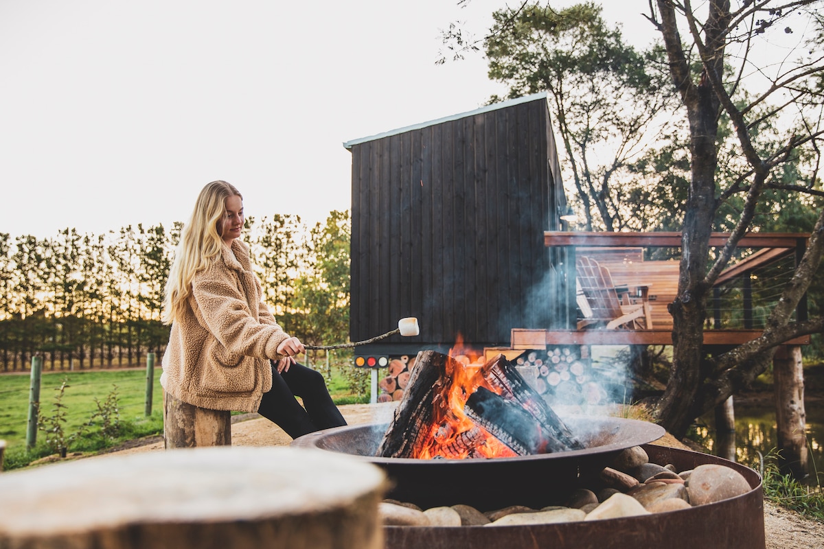
[[[218,447],[0,475],[0,547],[383,547],[384,473],[343,454]]]

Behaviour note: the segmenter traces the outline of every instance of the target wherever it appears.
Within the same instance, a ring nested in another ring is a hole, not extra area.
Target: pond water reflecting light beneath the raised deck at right
[[[734,399],[733,399],[734,402]],[[734,404],[735,434],[731,440],[719,435],[714,426],[714,414],[702,417],[690,438],[704,446],[709,454],[732,459],[759,471],[762,456],[775,458],[778,444],[775,427],[775,407],[772,403]],[[809,477],[807,484],[824,483],[824,406],[821,402],[805,402],[807,412],[807,448]]]

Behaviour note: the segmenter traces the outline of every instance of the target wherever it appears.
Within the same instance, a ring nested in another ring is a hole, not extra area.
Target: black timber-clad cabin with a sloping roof
[[[508,346],[511,328],[574,324],[555,277],[564,252],[544,242],[567,207],[545,93],[344,147],[352,152],[349,337],[386,333],[410,316],[421,329],[359,346],[356,356],[446,352],[457,337],[473,348]]]

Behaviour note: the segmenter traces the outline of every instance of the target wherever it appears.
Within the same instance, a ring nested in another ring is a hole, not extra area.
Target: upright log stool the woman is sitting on
[[[166,449],[231,446],[231,412],[192,406],[164,392],[163,438]]]

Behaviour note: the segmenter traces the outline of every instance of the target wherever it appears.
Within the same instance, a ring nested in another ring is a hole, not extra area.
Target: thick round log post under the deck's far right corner
[[[785,345],[773,357],[775,423],[778,437],[779,468],[796,479],[808,475],[807,437],[804,424],[804,371],[801,347]]]

